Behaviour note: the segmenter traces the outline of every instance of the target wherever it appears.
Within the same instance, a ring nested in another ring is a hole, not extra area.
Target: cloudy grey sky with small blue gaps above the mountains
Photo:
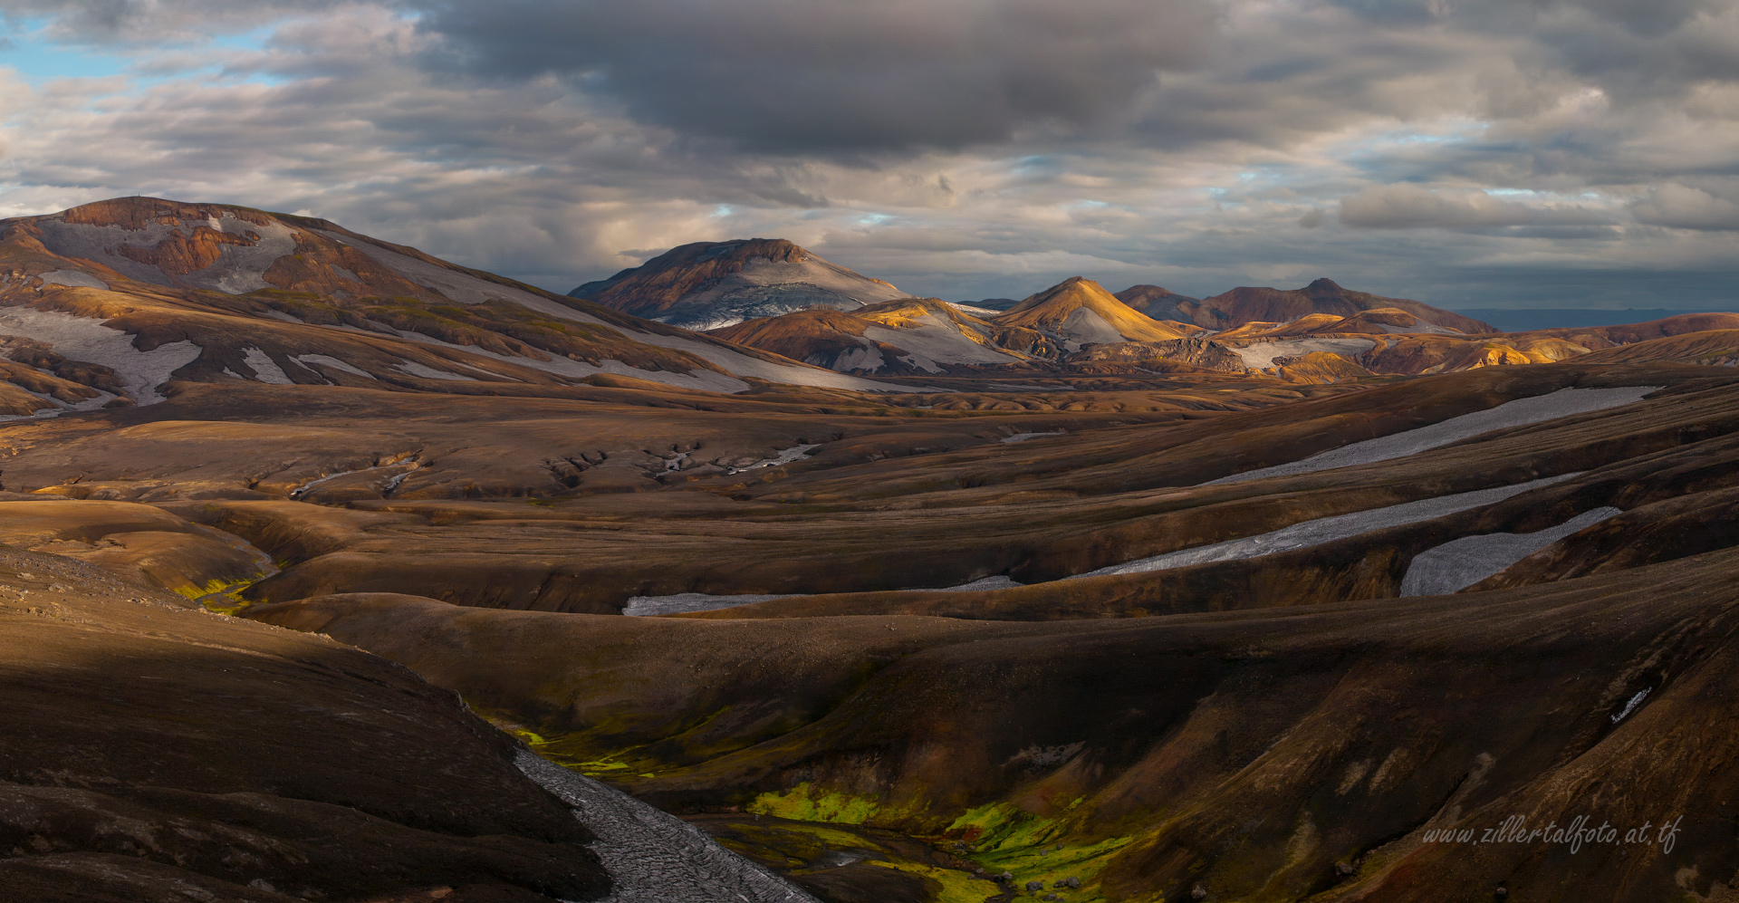
[[[120,195],[553,291],[763,237],[951,301],[1730,310],[1739,0],[0,0],[0,216]]]

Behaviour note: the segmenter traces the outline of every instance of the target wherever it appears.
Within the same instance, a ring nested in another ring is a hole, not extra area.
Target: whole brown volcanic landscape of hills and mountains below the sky
[[[37,900],[1739,893],[1739,315],[0,230]]]

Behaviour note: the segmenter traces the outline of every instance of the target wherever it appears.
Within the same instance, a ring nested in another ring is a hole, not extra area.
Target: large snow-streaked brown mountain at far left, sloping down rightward
[[[153,404],[170,381],[560,393],[624,376],[871,388],[325,219],[117,198],[0,221],[0,409]]]

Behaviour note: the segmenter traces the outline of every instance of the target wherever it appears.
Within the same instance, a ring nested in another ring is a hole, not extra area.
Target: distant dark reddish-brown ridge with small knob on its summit
[[[1137,285],[1139,289],[1139,285]],[[1129,289],[1134,292],[1136,289]],[[1283,324],[1309,317],[1313,313],[1332,313],[1336,317],[1353,317],[1376,308],[1398,308],[1423,322],[1454,329],[1457,332],[1497,332],[1487,324],[1471,317],[1462,317],[1447,310],[1438,310],[1419,301],[1403,298],[1383,298],[1369,292],[1355,292],[1336,285],[1332,280],[1318,278],[1303,289],[1250,289],[1240,287],[1214,298],[1193,301],[1177,296],[1177,301],[1160,301],[1146,310],[1149,317],[1188,320],[1209,329],[1228,329],[1249,322]]]

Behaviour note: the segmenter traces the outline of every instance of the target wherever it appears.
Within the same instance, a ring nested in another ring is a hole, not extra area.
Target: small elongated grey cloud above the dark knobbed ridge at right
[[[1501,226],[1588,226],[1605,223],[1576,205],[1534,207],[1485,191],[1384,184],[1341,198],[1341,224],[1362,230],[1487,230]]]

